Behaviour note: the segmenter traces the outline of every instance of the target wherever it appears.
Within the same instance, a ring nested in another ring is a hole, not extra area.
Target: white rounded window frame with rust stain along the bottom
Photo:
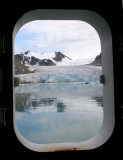
[[[24,24],[34,20],[81,20],[87,22],[92,27],[94,27],[97,33],[99,34],[101,41],[101,53],[102,53],[102,72],[105,76],[105,84],[103,87],[103,108],[104,108],[103,124],[100,131],[94,137],[92,137],[87,141],[82,141],[79,143],[34,144],[26,140],[18,131],[15,122],[15,106],[14,106],[13,125],[16,136],[25,147],[37,152],[53,152],[53,151],[64,151],[64,150],[90,150],[103,145],[111,137],[115,125],[112,35],[108,23],[102,16],[90,10],[59,10],[59,9],[32,10],[25,13],[16,23],[13,30],[13,48],[14,48],[14,39],[19,29]],[[13,89],[13,102],[15,102],[14,89]]]

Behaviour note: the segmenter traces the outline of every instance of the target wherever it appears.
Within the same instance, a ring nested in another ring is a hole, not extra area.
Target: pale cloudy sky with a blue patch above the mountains
[[[14,54],[25,51],[57,51],[86,63],[101,53],[101,43],[97,31],[86,22],[36,20],[23,25],[16,34]]]

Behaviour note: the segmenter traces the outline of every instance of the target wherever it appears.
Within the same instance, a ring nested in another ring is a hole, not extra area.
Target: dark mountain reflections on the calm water
[[[38,107],[56,106],[57,112],[65,112],[66,104],[57,98],[40,98],[31,99],[31,94],[16,94],[16,111],[17,112],[30,112],[36,110]],[[91,97],[92,100],[103,107],[102,97]]]

